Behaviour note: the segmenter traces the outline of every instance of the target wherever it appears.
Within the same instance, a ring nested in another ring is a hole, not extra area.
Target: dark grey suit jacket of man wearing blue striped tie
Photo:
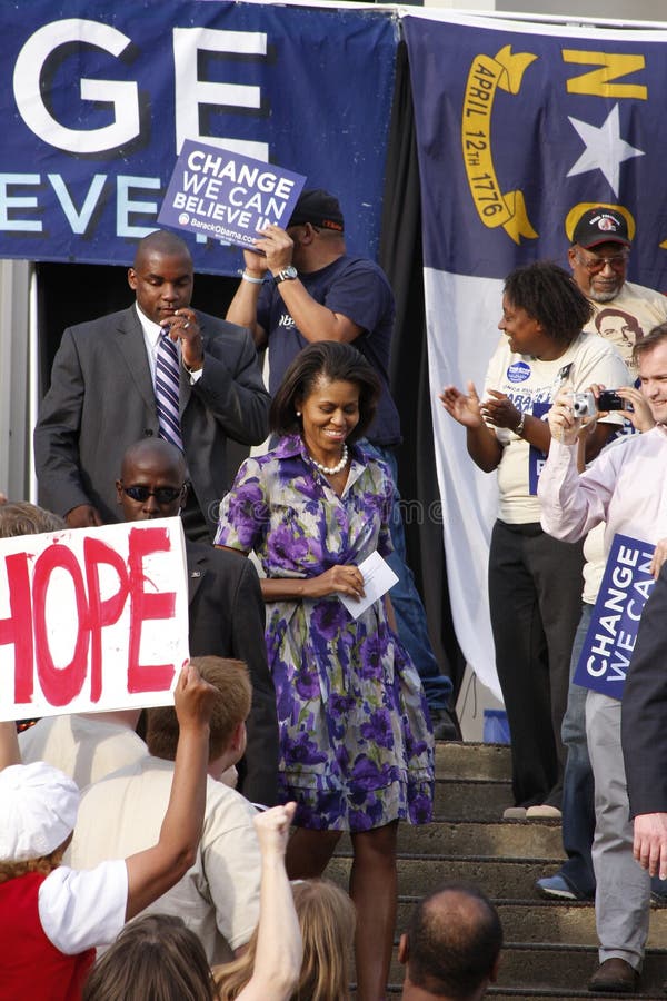
[[[189,477],[209,529],[233,479],[227,438],[258,445],[270,405],[248,330],[197,313],[203,375],[181,367],[180,418]],[[120,521],[115,480],[125,452],[159,430],[156,398],[136,307],[68,327],[34,429],[40,502],[60,515],[92,504]]]

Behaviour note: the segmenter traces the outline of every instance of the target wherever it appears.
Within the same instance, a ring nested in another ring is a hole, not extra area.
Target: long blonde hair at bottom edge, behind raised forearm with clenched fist
[[[357,914],[347,893],[330,880],[292,883],[303,940],[299,982],[290,1001],[348,1001]],[[252,977],[257,929],[238,960],[213,968],[220,1001],[235,1001]]]

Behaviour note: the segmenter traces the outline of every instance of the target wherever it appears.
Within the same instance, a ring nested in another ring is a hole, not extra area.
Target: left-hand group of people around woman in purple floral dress
[[[180,517],[190,651],[176,708],[2,726],[7,997],[385,997],[398,824],[432,813],[421,676],[436,726],[451,692],[405,564],[394,300],[325,191],[256,250],[220,320],[191,306],[180,237],[139,242],[133,305],[62,336],[34,430],[43,506],[0,509],[6,536]],[[265,333],[270,396],[259,285],[295,314]],[[228,439],[267,435],[235,476]],[[396,598],[365,601],[372,556]],[[344,832],[349,894],[321,879]]]

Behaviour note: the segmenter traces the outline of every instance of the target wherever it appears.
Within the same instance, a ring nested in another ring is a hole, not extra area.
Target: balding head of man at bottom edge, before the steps
[[[410,982],[457,1001],[466,1001],[491,975],[502,947],[498,912],[469,883],[445,883],[425,896],[407,934]]]

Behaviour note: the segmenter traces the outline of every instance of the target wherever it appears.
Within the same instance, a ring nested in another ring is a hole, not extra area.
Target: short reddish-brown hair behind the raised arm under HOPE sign
[[[192,657],[205,681],[218,690],[210,722],[209,761],[227,750],[235,727],[248,718],[252,704],[252,685],[243,661],[230,657]],[[169,705],[148,710],[146,743],[155,757],[176,761],[178,718]]]

